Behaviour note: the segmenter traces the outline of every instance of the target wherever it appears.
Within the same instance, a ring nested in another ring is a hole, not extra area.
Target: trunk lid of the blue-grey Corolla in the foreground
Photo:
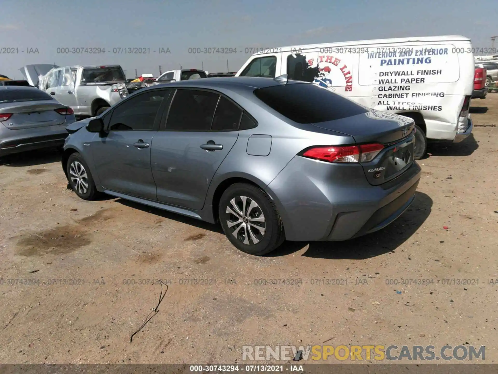
[[[350,135],[357,144],[382,144],[384,148],[372,161],[362,163],[367,180],[373,186],[398,177],[414,161],[415,124],[410,118],[369,111],[313,126]]]

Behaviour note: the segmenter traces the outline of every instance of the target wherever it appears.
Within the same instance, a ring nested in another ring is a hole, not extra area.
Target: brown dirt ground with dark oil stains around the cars
[[[498,123],[498,94],[472,105],[476,125]],[[266,257],[239,252],[211,224],[84,201],[56,152],[0,159],[0,362],[233,364],[243,345],[329,339],[485,345],[494,362],[498,128],[429,153],[415,202],[385,229],[285,242]],[[130,342],[158,303],[157,279],[168,290]]]

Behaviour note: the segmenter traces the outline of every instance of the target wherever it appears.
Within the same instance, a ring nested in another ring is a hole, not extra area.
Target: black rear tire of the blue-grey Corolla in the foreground
[[[243,197],[246,197],[245,212],[243,210]],[[231,203],[232,199],[238,206],[238,211]],[[248,211],[251,201],[256,206],[252,205],[253,207]],[[237,214],[227,212],[228,208]],[[245,214],[239,214],[239,212]],[[262,256],[276,249],[285,239],[282,219],[277,208],[268,194],[259,187],[248,183],[237,183],[228,187],[221,196],[218,213],[221,226],[228,240],[243,252]],[[252,223],[250,220],[253,220]],[[228,221],[232,223],[239,221],[240,223],[229,227]],[[248,229],[250,232],[246,232],[248,223],[251,223],[251,226],[249,226],[251,228]],[[264,228],[264,230],[261,231],[257,227]],[[237,237],[234,232],[237,233]]]

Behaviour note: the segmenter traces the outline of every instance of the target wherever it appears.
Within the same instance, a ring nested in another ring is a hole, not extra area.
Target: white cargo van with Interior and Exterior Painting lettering
[[[469,38],[428,36],[261,48],[236,76],[314,82],[370,107],[412,118],[415,157],[427,139],[460,142],[469,115],[474,55]]]

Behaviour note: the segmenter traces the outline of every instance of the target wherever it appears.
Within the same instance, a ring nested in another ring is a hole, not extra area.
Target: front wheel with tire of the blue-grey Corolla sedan
[[[95,200],[100,195],[100,192],[97,191],[97,187],[95,187],[90,168],[83,159],[83,156],[78,152],[69,156],[66,164],[66,171],[69,185],[83,200]],[[78,175],[80,176],[80,183],[78,183],[79,181],[76,179]]]

